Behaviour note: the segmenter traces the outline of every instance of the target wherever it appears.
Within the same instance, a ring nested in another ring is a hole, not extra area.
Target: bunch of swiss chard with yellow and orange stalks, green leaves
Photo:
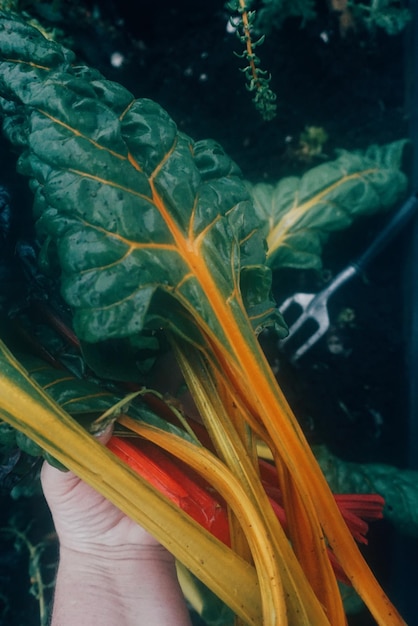
[[[113,371],[124,378],[125,351],[150,357],[169,346],[202,422],[165,422],[133,396],[95,392],[93,382],[51,374],[1,343],[3,435],[15,429],[152,532],[239,623],[343,625],[340,573],[378,623],[403,624],[257,338],[266,327],[286,333],[271,265],[315,266],[328,231],[404,192],[393,167],[401,142],[249,189],[216,142],[193,141],[156,103],[14,15],[0,18],[0,64],[3,129],[31,181],[40,263],[59,279],[82,353],[100,370],[103,345],[118,346]],[[228,541],[75,419],[94,413],[96,426],[117,419],[144,448],[158,446],[206,481],[226,503]],[[270,494],[260,444],[273,459]]]

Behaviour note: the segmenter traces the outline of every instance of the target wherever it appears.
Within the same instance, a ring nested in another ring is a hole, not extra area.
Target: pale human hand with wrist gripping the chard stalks
[[[190,626],[173,556],[72,472],[44,463],[60,543],[52,626]]]

